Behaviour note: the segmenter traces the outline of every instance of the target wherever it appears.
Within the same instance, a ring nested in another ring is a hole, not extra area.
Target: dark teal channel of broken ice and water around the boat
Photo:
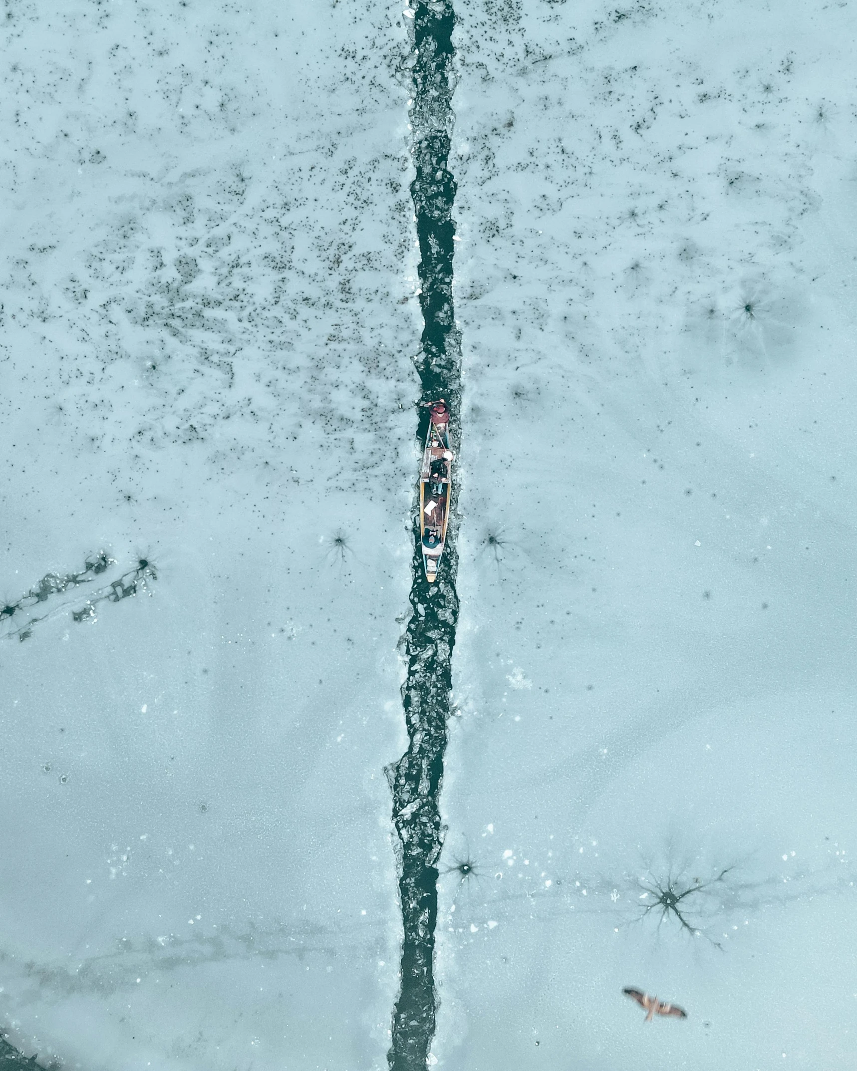
[[[450,0],[417,0],[414,16],[414,87],[410,110],[416,178],[411,184],[420,244],[420,303],[424,327],[416,359],[423,403],[445,398],[450,437],[458,444],[461,340],[452,305],[455,182],[448,168],[453,114]],[[428,417],[421,410],[424,439]],[[399,836],[404,940],[402,990],[393,1011],[392,1071],[425,1071],[435,1032],[434,984],[437,862],[443,845],[438,797],[452,688],[452,648],[458,618],[455,592],[457,481],[453,472],[450,523],[437,579],[423,571],[419,515],[414,524],[412,613],[406,633],[407,678],[402,687],[408,749],[388,769]]]

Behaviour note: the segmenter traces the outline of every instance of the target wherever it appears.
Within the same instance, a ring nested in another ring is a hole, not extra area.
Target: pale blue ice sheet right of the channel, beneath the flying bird
[[[848,1066],[854,13],[456,11],[433,1052]]]

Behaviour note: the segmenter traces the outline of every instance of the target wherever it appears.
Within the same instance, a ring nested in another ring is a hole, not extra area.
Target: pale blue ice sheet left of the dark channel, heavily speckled
[[[420,326],[397,21],[9,10],[1,594],[37,605],[3,630],[48,616],[0,638],[0,1025],[40,1060],[386,1065]],[[140,559],[146,590],[94,602]]]

